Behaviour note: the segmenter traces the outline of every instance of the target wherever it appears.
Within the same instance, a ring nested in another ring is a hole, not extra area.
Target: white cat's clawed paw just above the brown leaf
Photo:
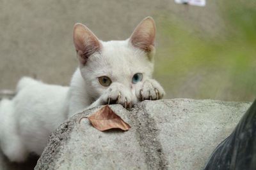
[[[132,93],[120,83],[113,83],[100,97],[102,104],[122,104],[124,108],[132,107]]]

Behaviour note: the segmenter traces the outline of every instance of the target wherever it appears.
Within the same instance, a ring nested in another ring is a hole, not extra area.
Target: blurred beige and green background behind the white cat
[[[253,101],[256,97],[256,1],[0,0],[0,90],[22,76],[68,85],[77,67],[72,29],[129,38],[148,15],[157,25],[154,77],[175,97]]]

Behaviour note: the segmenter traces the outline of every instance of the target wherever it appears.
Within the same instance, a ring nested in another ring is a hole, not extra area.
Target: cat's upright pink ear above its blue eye
[[[134,29],[130,42],[136,48],[154,55],[154,41],[156,37],[156,24],[152,17],[144,18]]]

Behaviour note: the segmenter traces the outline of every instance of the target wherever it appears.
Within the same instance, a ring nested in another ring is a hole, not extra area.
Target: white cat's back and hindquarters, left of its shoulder
[[[1,149],[10,160],[21,162],[29,152],[42,153],[49,134],[67,120],[68,89],[24,77],[17,96],[1,101]]]

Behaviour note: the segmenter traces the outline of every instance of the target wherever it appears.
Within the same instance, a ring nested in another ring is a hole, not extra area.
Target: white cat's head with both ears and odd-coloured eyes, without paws
[[[124,41],[100,41],[88,27],[76,24],[74,45],[89,95],[99,97],[111,82],[122,83],[132,91],[139,81],[151,78],[155,36],[151,17],[142,20]]]

